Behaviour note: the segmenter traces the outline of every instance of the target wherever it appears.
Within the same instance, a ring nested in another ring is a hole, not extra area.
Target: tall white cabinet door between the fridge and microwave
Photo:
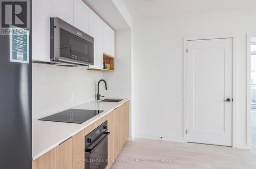
[[[50,62],[50,0],[32,3],[32,60]]]

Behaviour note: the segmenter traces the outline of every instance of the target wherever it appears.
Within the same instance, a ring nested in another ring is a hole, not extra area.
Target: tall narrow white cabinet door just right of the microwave
[[[102,23],[102,19],[89,9],[89,35],[94,38],[94,65],[90,68],[103,68]]]

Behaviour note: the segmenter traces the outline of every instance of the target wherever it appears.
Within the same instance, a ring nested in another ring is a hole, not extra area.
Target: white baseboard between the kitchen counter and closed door
[[[148,139],[166,140],[171,142],[184,142],[183,137],[172,136],[172,135],[154,135],[154,134],[135,133],[135,138],[148,138]]]

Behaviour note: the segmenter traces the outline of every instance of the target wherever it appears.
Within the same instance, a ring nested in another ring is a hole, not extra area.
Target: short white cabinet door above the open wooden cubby
[[[103,22],[103,53],[115,57],[115,31]]]

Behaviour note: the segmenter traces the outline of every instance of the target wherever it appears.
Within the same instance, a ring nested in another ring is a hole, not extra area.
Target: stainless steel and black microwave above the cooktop
[[[93,65],[93,37],[60,18],[50,18],[51,61],[71,65]]]

